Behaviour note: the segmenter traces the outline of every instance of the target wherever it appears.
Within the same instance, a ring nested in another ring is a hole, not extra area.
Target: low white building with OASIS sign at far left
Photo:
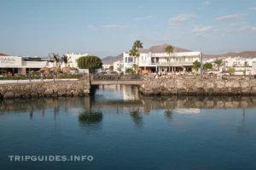
[[[53,67],[52,60],[42,60],[38,56],[0,56],[0,73],[3,74],[23,74],[29,71],[38,71],[42,67]]]

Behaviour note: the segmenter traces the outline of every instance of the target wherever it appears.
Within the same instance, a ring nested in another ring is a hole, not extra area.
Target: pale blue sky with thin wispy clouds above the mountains
[[[100,57],[169,43],[204,54],[256,50],[256,0],[1,0],[0,53]]]

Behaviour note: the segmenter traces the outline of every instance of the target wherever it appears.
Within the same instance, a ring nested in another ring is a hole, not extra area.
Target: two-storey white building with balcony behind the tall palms
[[[194,71],[193,62],[198,60],[202,63],[201,52],[180,52],[180,53],[140,53],[140,56],[133,61],[133,57],[129,53],[124,53],[124,71],[132,68],[136,63],[143,73],[154,71],[169,72],[169,65],[171,72],[190,72]],[[202,73],[202,65],[198,73]]]

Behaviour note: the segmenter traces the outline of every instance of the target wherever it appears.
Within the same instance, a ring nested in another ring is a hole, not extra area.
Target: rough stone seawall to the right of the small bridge
[[[139,91],[144,95],[256,95],[256,80],[144,77]]]

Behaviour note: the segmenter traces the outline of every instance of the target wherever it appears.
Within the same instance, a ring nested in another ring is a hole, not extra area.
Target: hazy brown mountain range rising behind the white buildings
[[[162,44],[158,46],[152,46],[151,48],[143,48],[140,49],[140,53],[165,53],[165,48],[169,44]],[[174,46],[173,46],[174,47]],[[189,49],[184,49],[184,48],[177,48],[174,47],[173,50],[174,53],[181,53],[181,52],[191,52]],[[227,54],[203,54],[203,59],[212,59],[212,58],[219,58],[219,57],[243,57],[243,58],[256,58],[256,51],[244,51],[241,53],[227,53]],[[119,54],[116,57],[113,56],[108,56],[104,59],[102,59],[103,64],[109,65],[113,64],[113,62],[118,61],[118,60],[123,60],[123,54]]]

